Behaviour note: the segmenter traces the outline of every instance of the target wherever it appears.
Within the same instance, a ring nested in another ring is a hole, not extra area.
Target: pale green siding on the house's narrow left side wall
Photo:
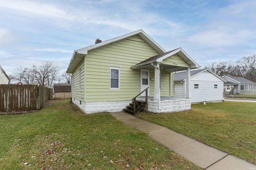
[[[72,76],[74,76],[74,88],[72,88],[72,97],[76,98],[78,100],[84,101],[84,89],[85,89],[85,83],[84,83],[84,61],[76,68],[76,70],[73,72]],[[81,88],[79,87],[79,70],[81,69]],[[73,79],[72,79],[73,80]]]

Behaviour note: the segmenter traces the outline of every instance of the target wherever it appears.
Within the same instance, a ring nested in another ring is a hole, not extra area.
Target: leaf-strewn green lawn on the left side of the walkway
[[[68,100],[36,113],[0,115],[1,170],[67,168],[200,169],[110,114],[86,115]]]

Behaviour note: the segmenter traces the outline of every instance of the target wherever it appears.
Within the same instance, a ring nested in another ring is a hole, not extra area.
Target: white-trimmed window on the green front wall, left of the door
[[[110,66],[110,90],[120,90],[120,67]]]

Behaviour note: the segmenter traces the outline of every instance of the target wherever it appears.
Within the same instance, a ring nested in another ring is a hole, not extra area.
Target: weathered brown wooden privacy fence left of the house
[[[52,96],[52,89],[41,85],[0,84],[0,111],[36,110]]]

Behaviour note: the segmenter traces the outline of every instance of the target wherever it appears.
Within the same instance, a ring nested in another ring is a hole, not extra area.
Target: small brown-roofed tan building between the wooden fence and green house
[[[54,84],[55,99],[70,99],[71,98],[71,84]]]

